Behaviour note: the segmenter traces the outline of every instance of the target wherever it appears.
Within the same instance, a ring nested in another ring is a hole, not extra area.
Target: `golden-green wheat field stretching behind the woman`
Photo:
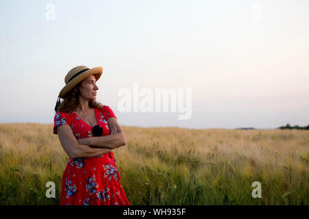
[[[0,205],[59,205],[69,157],[52,127],[0,124]],[[308,205],[309,131],[122,128],[114,156],[131,205]]]

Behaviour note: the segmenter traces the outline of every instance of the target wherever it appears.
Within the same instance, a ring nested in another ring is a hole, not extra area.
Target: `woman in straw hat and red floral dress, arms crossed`
[[[72,68],[58,96],[54,134],[70,157],[60,205],[130,205],[111,152],[126,144],[124,131],[111,108],[95,101],[102,71]]]

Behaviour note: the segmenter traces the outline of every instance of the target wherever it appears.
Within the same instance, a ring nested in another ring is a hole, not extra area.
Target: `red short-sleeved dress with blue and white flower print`
[[[102,136],[108,136],[108,118],[115,117],[110,107],[95,108],[97,125],[103,128]],[[54,117],[54,134],[59,125],[69,125],[76,139],[92,137],[92,127],[75,112],[58,112]],[[62,175],[60,205],[130,205],[113,153],[92,158],[69,158]]]

